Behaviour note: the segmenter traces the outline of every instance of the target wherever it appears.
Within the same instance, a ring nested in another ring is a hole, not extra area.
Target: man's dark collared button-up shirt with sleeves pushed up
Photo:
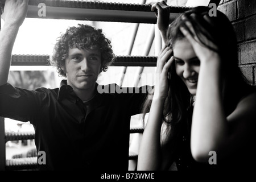
[[[139,89],[143,93],[96,92],[85,105],[67,80],[56,89],[5,84],[0,115],[32,123],[36,148],[46,152],[39,170],[123,171],[129,162],[130,116],[141,113],[146,98],[147,87]]]

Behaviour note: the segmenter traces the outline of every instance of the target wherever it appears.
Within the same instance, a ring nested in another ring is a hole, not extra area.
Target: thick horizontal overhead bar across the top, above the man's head
[[[4,6],[3,1],[2,5]],[[39,10],[46,5],[46,16],[39,16]],[[36,0],[28,3],[27,18],[75,19],[102,22],[156,23],[151,5],[131,3],[107,3],[92,1]],[[40,4],[42,5],[42,4]],[[180,13],[190,9],[183,6],[169,6],[170,22]]]

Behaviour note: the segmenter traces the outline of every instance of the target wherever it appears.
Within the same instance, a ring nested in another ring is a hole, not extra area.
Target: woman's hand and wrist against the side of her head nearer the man
[[[159,53],[156,65],[154,98],[165,100],[167,97],[168,75],[173,61],[172,48],[164,47]]]

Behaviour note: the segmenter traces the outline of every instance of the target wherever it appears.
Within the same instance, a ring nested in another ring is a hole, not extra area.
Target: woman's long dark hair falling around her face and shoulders
[[[232,23],[230,23],[225,14],[218,10],[217,16],[209,16],[210,23],[207,22],[203,16],[208,16],[209,10],[208,7],[204,6],[195,7],[184,13],[185,19],[181,18],[183,15],[181,14],[168,28],[166,45],[173,47],[177,40],[184,39],[184,35],[179,28],[184,25],[185,20],[188,20],[195,29],[200,43],[219,53],[221,57],[221,77],[224,83],[222,85],[222,98],[225,113],[229,115],[241,97],[245,96],[245,90],[250,90],[247,89],[250,88],[250,85],[247,84],[238,67],[237,39]],[[212,41],[217,46],[217,49],[209,47],[201,35]],[[192,117],[189,114],[191,113],[189,110],[192,107],[192,96],[188,92],[187,86],[177,76],[175,63],[171,65],[168,74],[169,89],[164,103],[162,121],[167,123],[168,140],[170,141],[170,147],[173,147],[174,141],[180,134],[181,123],[187,122],[188,119],[191,119],[189,117]],[[144,114],[150,110],[151,102],[152,100],[148,98],[145,100],[143,105]]]

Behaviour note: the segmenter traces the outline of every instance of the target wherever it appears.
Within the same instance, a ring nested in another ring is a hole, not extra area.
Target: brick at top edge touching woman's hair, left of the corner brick
[[[223,5],[218,6],[217,8],[226,16],[228,16],[230,21],[237,19],[237,3],[236,1],[224,3]]]

